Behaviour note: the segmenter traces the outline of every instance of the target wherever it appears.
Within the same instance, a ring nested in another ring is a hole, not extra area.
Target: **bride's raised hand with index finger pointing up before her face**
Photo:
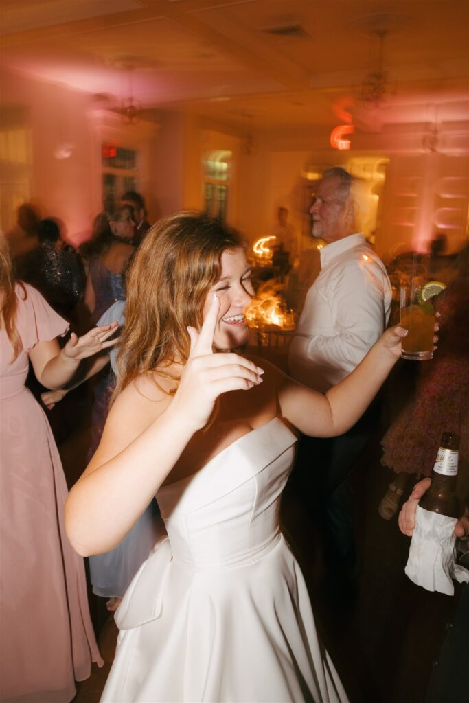
[[[173,403],[191,423],[194,432],[210,419],[215,401],[228,391],[249,390],[262,383],[264,371],[239,354],[213,353],[220,301],[213,295],[200,333],[188,327],[191,352]]]

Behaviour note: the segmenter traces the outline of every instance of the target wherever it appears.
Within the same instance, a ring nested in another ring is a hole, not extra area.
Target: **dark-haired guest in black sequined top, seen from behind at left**
[[[34,285],[56,312],[70,318],[72,309],[84,295],[77,256],[72,247],[63,247],[55,219],[41,220],[37,233],[39,247],[16,259],[16,276]]]

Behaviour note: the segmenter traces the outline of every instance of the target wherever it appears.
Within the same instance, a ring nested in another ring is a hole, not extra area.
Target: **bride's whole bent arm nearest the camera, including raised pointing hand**
[[[65,504],[70,542],[81,555],[108,551],[122,541],[146,509],[195,432],[224,392],[248,389],[262,371],[237,354],[212,354],[219,300],[200,334],[174,399],[140,378],[116,399],[94,457]]]

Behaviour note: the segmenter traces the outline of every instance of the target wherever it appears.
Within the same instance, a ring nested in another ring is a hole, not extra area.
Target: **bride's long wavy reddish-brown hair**
[[[205,298],[220,277],[221,254],[245,246],[236,229],[190,210],[150,228],[127,273],[116,393],[143,373],[158,367],[166,375],[174,361],[186,363],[187,327],[200,330]]]

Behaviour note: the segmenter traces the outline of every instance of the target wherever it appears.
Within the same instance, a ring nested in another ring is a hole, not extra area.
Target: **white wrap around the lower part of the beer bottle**
[[[439,515],[417,506],[416,526],[413,529],[406,574],[417,586],[427,591],[454,594],[451,579],[469,581],[468,569],[456,566],[454,517]]]

